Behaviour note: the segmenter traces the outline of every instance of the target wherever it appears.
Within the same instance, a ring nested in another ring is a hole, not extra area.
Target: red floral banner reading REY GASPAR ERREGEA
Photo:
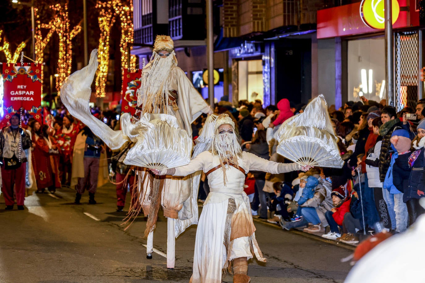
[[[23,123],[30,116],[42,120],[41,68],[41,64],[34,63],[3,63],[3,99],[0,101],[3,109],[0,110],[0,126],[5,126],[11,115],[20,112],[21,107]]]

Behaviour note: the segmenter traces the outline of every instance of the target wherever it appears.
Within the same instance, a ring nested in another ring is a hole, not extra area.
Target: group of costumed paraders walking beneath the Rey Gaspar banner
[[[2,192],[7,199],[6,209],[13,209],[14,194],[18,209],[24,209],[25,187],[34,189],[35,193],[55,193],[62,187],[75,188],[76,204],[80,204],[82,194],[88,191],[88,203],[96,204],[96,188],[99,183],[108,181],[107,163],[111,162],[106,160],[111,158],[112,152],[63,106],[43,109],[42,112],[42,123],[25,111],[16,113],[0,132]],[[112,129],[119,129],[116,111],[101,111],[94,107],[91,112]],[[119,186],[125,184],[120,182]],[[118,208],[124,207],[125,193],[122,191],[117,188]]]

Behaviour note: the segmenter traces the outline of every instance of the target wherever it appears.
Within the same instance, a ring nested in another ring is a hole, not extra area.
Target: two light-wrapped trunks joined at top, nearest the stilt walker
[[[98,22],[101,31],[99,38],[99,70],[96,73],[96,95],[97,97],[105,97],[105,87],[108,76],[109,67],[109,42],[110,33],[116,17],[119,18],[121,27],[120,52],[122,69],[135,69],[136,56],[129,54],[133,45],[133,0],[129,1],[130,5],[125,6],[121,0],[112,0],[108,2],[99,1],[96,8],[100,9]],[[130,47],[130,48],[129,48]],[[130,56],[130,65],[127,58]]]

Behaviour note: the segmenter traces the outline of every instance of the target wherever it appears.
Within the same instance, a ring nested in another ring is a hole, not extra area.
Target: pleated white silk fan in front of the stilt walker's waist
[[[193,142],[186,131],[178,129],[175,117],[146,113],[136,123],[132,135],[136,144],[128,151],[124,163],[151,169],[167,169],[190,162]],[[128,136],[131,137],[129,134]]]

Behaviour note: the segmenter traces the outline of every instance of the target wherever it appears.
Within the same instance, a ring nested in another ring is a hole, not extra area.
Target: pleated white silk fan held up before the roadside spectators
[[[301,165],[342,168],[337,137],[323,95],[314,98],[303,113],[286,120],[278,133],[276,151]]]

